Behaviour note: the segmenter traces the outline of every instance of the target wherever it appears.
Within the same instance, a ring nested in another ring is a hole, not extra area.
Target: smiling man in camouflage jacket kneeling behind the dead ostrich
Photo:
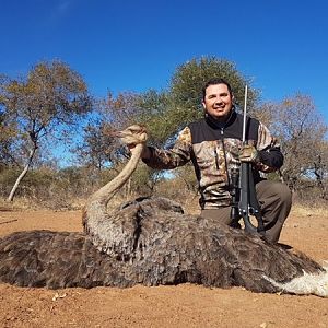
[[[261,177],[283,164],[280,147],[257,119],[247,119],[247,145],[243,145],[243,116],[235,112],[233,93],[223,79],[210,80],[203,87],[204,118],[190,124],[172,150],[147,147],[143,162],[169,169],[192,161],[200,191],[201,215],[231,224],[231,173],[241,162],[254,167],[256,194],[261,208],[266,238],[276,243],[292,200],[289,188]]]

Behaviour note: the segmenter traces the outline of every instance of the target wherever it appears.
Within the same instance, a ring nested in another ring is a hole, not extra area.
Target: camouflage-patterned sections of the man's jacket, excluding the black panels
[[[194,143],[191,132],[186,127],[171,150],[150,148],[151,159],[144,162],[157,169],[172,169],[192,161],[198,178],[200,191],[200,206],[202,209],[215,209],[231,206],[230,175],[232,168],[241,165],[238,154],[242,140],[225,138],[223,140],[202,141]],[[258,141],[248,140],[258,151],[279,148],[269,130],[259,125]],[[256,164],[258,171],[268,173],[276,168],[269,167],[260,162]]]

